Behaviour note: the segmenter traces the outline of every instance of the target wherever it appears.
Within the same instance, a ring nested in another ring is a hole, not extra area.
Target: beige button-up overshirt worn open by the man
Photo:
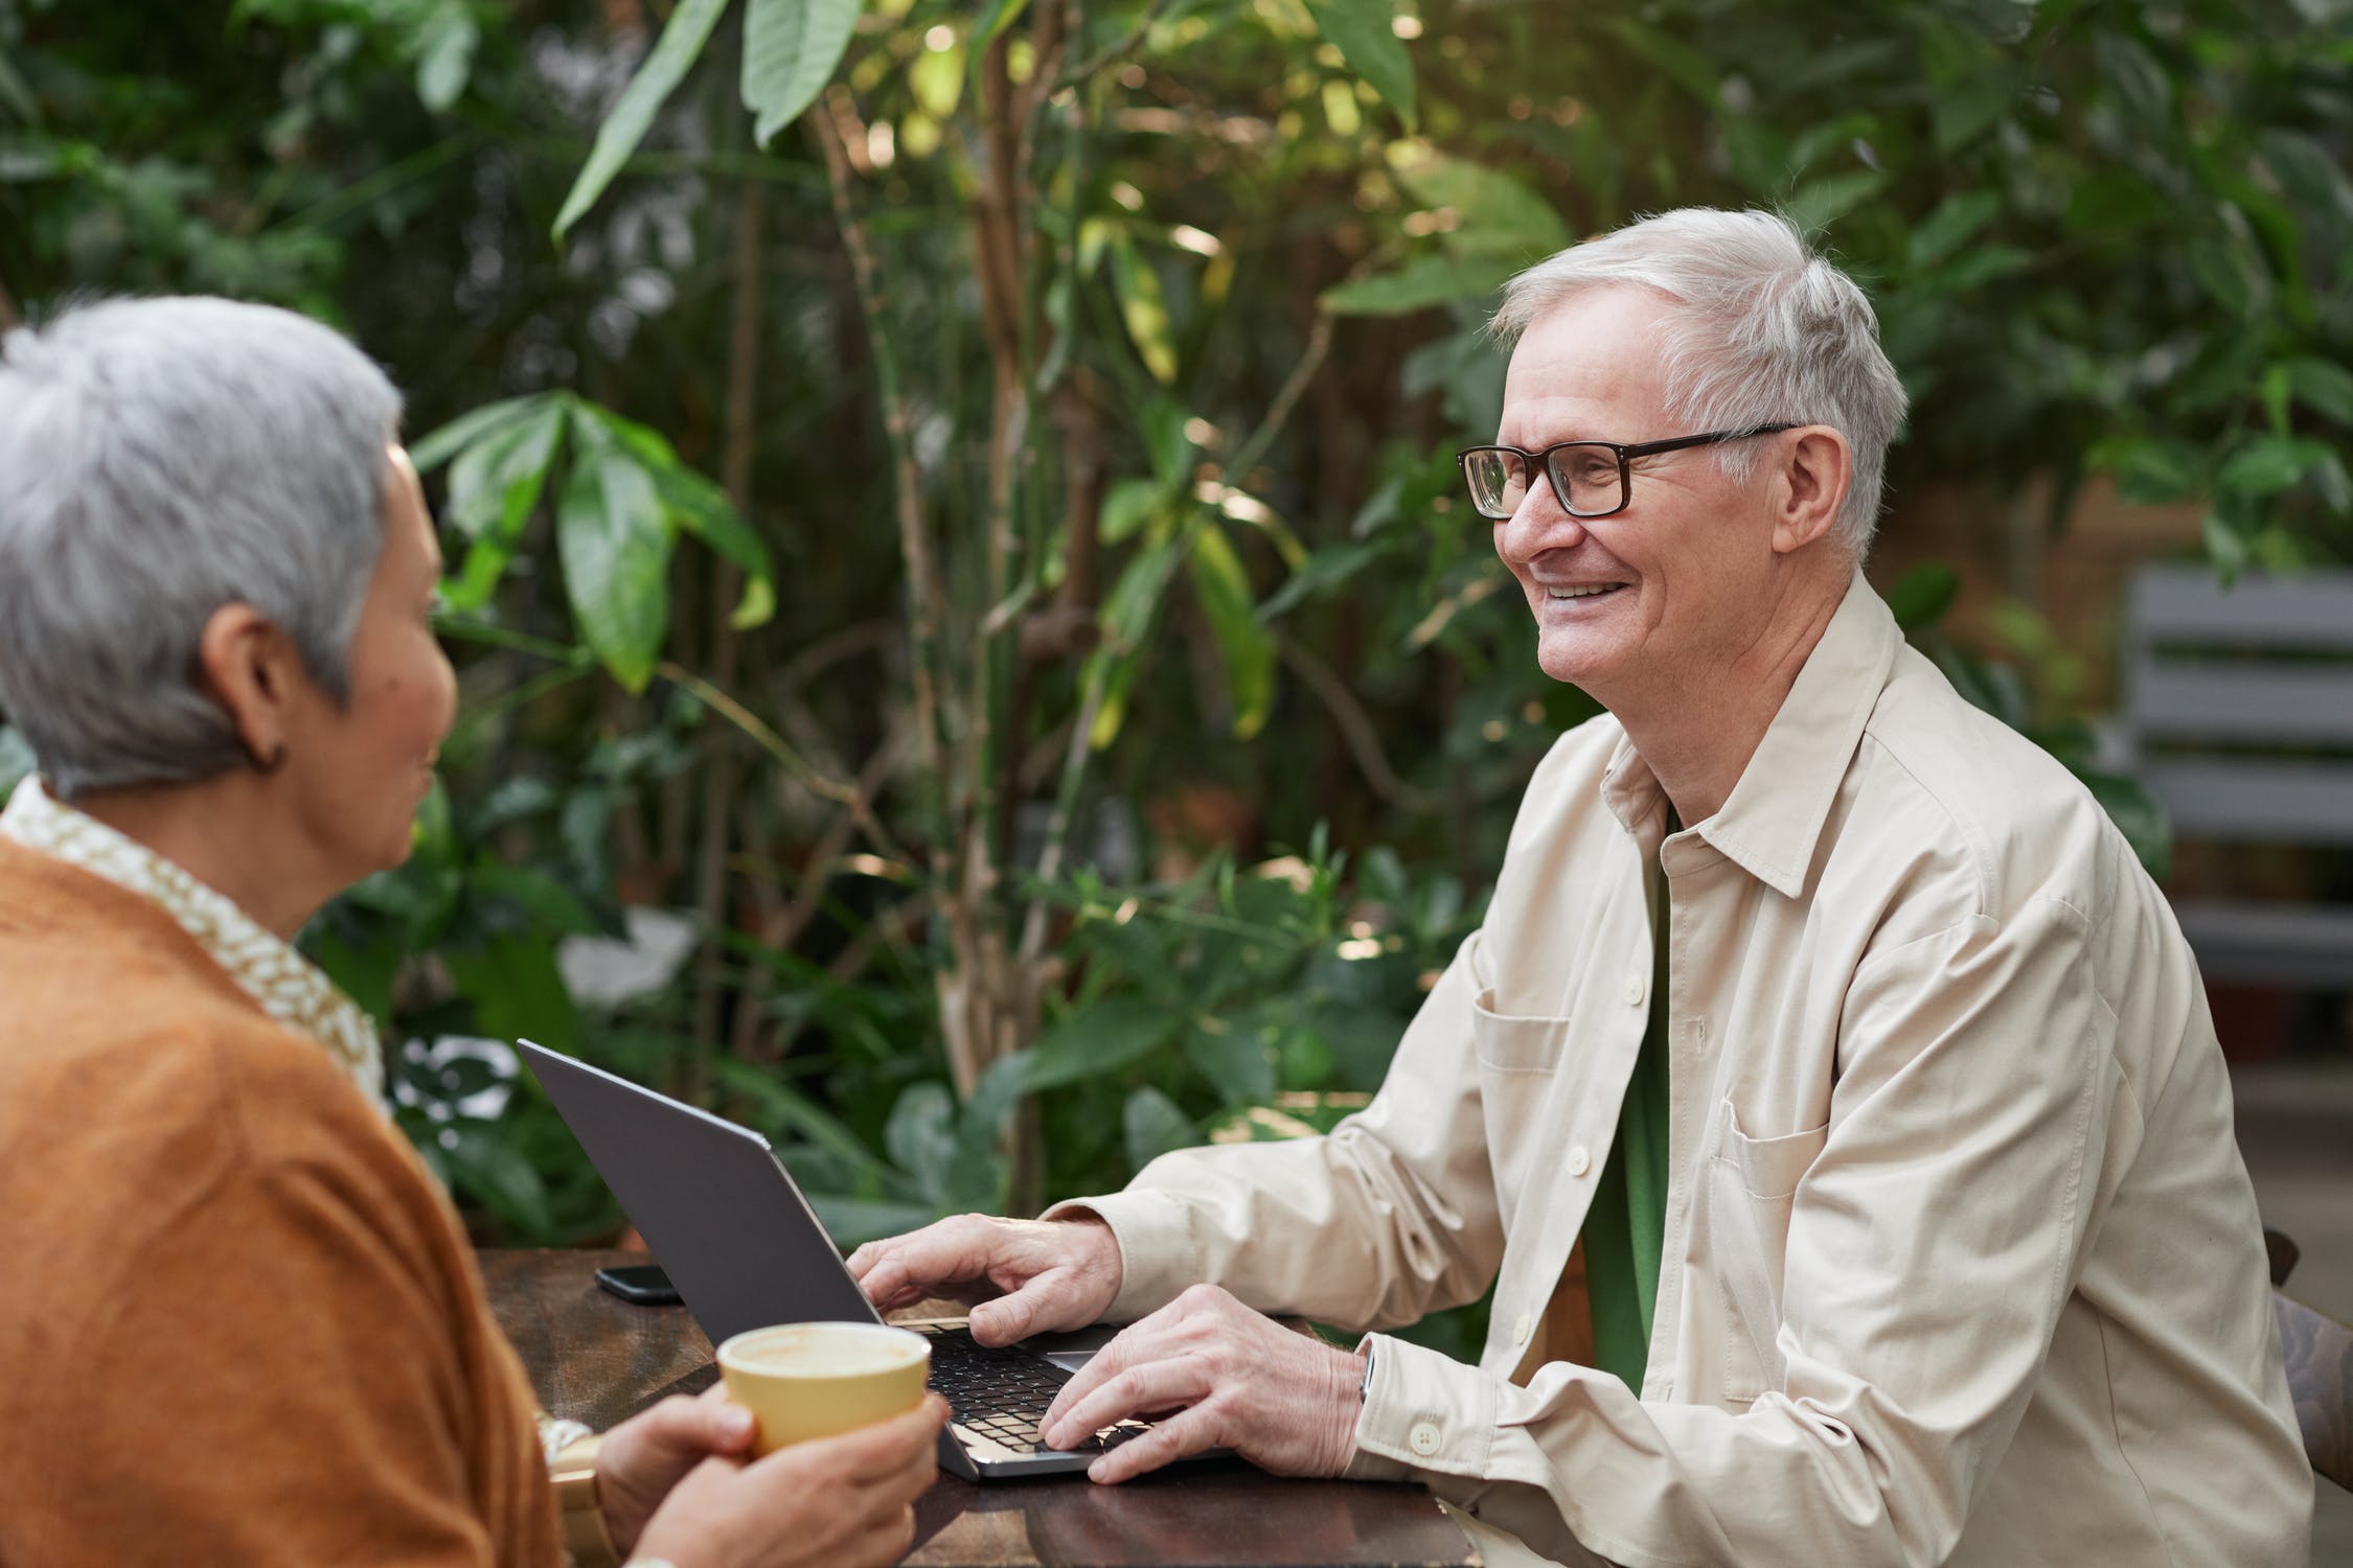
[[[1207,1279],[1384,1328],[1494,1281],[1475,1368],[1374,1335],[1351,1474],[1560,1561],[2301,1566],[2221,1051],[2099,804],[1857,578],[1722,811],[1664,823],[1614,719],[1562,736],[1362,1114],[1087,1204],[1113,1316]],[[1537,1359],[1642,1044],[1654,856],[1671,1185],[1635,1399]]]

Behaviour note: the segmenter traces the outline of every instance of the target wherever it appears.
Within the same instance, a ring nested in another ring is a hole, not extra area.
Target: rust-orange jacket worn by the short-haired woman
[[[172,922],[0,842],[0,1568],[565,1556],[416,1154]]]

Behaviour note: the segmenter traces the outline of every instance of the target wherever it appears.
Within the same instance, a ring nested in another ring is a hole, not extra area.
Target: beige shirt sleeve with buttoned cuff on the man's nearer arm
[[[1584,1366],[1518,1387],[1377,1338],[1353,1474],[1419,1476],[1562,1561],[1944,1561],[2052,1347],[2101,1164],[2137,1140],[2113,1027],[2059,900],[1868,957],[1788,1199],[1779,1380],[1746,1410],[1645,1403]],[[1708,1215],[1744,1222],[1774,1229]]]

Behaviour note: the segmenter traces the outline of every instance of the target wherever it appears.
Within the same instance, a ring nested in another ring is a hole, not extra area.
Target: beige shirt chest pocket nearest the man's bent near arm
[[[1781,1387],[1781,1295],[1788,1220],[1798,1182],[1831,1140],[1828,1124],[1779,1138],[1741,1131],[1732,1100],[1722,1105],[1715,1154],[1701,1171],[1706,1244],[1725,1298],[1725,1387],[1748,1403]]]

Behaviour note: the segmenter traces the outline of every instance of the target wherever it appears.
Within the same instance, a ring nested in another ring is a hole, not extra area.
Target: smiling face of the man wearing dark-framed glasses
[[[1497,442],[1541,451],[1697,435],[1666,411],[1671,313],[1661,294],[1612,284],[1541,315],[1511,355]],[[1769,463],[1734,484],[1701,447],[1635,458],[1631,473],[1626,510],[1612,517],[1569,517],[1539,480],[1494,524],[1494,552],[1537,616],[1537,663],[1602,703],[1727,668],[1769,609]]]

